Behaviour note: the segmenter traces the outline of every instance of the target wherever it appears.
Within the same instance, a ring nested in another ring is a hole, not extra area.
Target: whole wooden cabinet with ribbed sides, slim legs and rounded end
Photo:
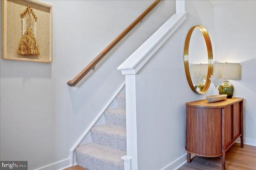
[[[206,99],[186,103],[186,151],[204,157],[222,156],[225,170],[226,151],[243,136],[243,101],[233,97],[209,103]]]

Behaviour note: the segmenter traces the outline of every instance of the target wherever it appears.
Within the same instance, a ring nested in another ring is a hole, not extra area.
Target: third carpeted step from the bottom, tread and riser
[[[126,127],[125,109],[107,109],[105,111],[106,124]]]

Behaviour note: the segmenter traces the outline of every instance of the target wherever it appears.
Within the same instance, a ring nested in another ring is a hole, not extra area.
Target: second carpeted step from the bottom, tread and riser
[[[126,128],[116,125],[99,125],[91,129],[92,142],[126,151]]]

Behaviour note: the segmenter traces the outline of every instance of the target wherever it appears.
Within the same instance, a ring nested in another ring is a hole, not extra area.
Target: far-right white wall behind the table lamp
[[[244,137],[256,146],[256,1],[214,6],[215,60],[240,63],[241,80],[230,80],[235,97],[244,98]]]

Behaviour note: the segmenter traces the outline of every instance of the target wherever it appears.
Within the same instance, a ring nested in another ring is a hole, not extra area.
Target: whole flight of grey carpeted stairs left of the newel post
[[[76,148],[76,163],[88,170],[123,170],[126,155],[125,95],[116,96],[117,108],[104,112],[106,124],[92,127],[92,142]]]

